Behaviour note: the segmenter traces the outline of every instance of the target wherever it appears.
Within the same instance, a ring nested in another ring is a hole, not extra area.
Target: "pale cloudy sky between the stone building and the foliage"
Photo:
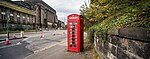
[[[18,0],[12,0],[18,1]],[[56,10],[58,20],[67,22],[67,16],[70,14],[80,14],[80,7],[90,0],[43,0],[49,6]]]

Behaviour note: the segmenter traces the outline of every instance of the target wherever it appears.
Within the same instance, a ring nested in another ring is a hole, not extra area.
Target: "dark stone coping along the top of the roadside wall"
[[[114,35],[133,40],[150,42],[150,30],[142,27],[112,29],[107,32],[108,35]]]

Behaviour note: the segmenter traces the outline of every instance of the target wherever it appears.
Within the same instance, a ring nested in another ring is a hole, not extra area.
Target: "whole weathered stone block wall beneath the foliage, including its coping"
[[[94,36],[94,45],[103,59],[150,59],[150,32],[144,28],[110,30]]]

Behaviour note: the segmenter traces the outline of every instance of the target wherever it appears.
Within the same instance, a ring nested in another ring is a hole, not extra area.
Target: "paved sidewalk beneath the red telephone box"
[[[67,51],[67,42],[64,42],[47,50],[29,55],[24,59],[92,59],[91,57],[85,58],[87,54],[90,54],[90,52],[84,51],[77,53]]]

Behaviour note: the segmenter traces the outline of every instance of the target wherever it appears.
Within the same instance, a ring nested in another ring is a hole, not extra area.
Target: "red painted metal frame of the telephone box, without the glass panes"
[[[83,35],[83,18],[81,15],[78,15],[78,14],[71,14],[69,15],[68,17],[68,23],[67,23],[67,38],[68,38],[68,50],[69,51],[75,51],[75,52],[80,52],[83,50],[83,47],[84,47],[84,35]],[[71,41],[71,37],[72,34],[70,34],[70,23],[72,22],[76,22],[77,24],[75,25],[75,34],[73,34],[74,36],[77,36],[76,39],[75,39],[75,42],[76,42],[76,47],[71,47],[70,43],[72,43]]]

